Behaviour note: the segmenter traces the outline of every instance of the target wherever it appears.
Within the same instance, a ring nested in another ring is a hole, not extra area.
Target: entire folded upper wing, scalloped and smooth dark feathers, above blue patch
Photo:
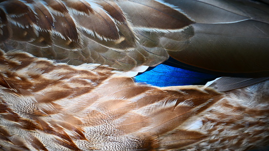
[[[204,72],[269,76],[268,4],[166,1],[175,6],[161,0],[4,0],[0,47],[124,71],[156,66],[170,55]]]

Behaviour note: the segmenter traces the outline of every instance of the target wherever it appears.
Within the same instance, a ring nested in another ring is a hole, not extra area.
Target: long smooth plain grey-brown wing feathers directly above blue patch
[[[191,45],[169,51],[204,72],[268,76],[269,6],[249,0],[168,0],[197,23]],[[196,9],[192,9],[195,7]]]

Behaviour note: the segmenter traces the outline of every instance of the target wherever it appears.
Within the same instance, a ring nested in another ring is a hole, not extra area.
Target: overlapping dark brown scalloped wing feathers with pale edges
[[[0,12],[3,50],[71,65],[155,66],[192,37],[180,31],[193,21],[156,0],[5,0]]]

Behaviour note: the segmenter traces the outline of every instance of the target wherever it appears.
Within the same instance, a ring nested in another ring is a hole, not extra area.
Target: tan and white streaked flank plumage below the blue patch
[[[0,63],[4,151],[245,151],[268,140],[269,81],[218,93],[22,51],[1,51]]]

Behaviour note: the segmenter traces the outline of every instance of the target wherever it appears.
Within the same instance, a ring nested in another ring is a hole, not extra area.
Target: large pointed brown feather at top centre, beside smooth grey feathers
[[[179,11],[155,0],[119,0],[118,4],[128,14],[134,27],[152,30],[179,30],[193,23]]]

